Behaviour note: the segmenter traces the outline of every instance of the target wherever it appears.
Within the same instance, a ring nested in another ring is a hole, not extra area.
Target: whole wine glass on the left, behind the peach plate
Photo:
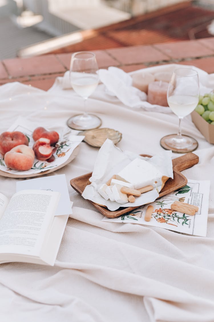
[[[84,99],[84,113],[68,119],[67,125],[76,130],[98,128],[102,121],[86,112],[86,101],[96,89],[99,81],[98,64],[93,52],[74,52],[71,56],[70,81],[73,90]]]

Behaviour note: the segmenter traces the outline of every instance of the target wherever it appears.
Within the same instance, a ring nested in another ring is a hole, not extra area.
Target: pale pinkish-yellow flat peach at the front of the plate
[[[4,162],[10,169],[26,171],[32,168],[34,156],[33,149],[21,144],[5,153]]]

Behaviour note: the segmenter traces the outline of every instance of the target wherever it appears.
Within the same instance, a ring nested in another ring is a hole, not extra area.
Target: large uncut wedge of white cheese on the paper
[[[117,178],[133,184],[134,189],[140,189],[147,185],[153,185],[155,181],[161,182],[162,173],[145,160],[136,158],[130,162],[118,174]]]

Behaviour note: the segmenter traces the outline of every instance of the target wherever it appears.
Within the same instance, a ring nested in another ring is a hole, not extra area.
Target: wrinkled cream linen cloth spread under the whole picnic
[[[0,87],[1,133],[21,115],[38,126],[66,126],[82,111],[73,90],[48,92],[17,82]],[[107,96],[99,85],[87,101],[102,127],[122,134],[122,150],[154,155],[164,135],[176,133],[173,113],[134,110]],[[188,116],[183,133],[198,140],[199,163],[183,171],[189,179],[211,180],[207,237],[157,227],[102,222],[70,186],[70,179],[93,170],[98,149],[80,143],[68,165],[48,175],[65,174],[73,214],[68,219],[54,267],[0,265],[0,317],[4,322],[213,322],[214,321],[214,146]],[[180,155],[173,154],[173,157]],[[0,192],[15,193],[16,182],[0,176]]]

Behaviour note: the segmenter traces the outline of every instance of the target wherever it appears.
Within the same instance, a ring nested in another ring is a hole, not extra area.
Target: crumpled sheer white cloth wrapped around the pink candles
[[[105,87],[101,87],[107,95],[115,96],[119,99],[125,106],[133,108],[133,109],[143,109],[143,110],[152,110],[155,112],[162,113],[172,113],[169,107],[163,107],[160,105],[152,105],[146,101],[147,95],[141,90],[132,86],[132,77],[136,72],[173,72],[176,68],[192,68],[198,72],[199,81],[200,81],[200,93],[204,95],[205,93],[209,93],[213,89],[214,85],[214,74],[209,75],[207,72],[190,65],[180,65],[180,64],[168,64],[161,66],[154,66],[149,68],[144,68],[138,71],[134,71],[131,73],[126,73],[122,69],[110,66],[108,69],[100,69],[98,71],[99,80],[104,84]],[[69,71],[66,71],[63,77],[58,77],[56,79],[53,88],[61,87],[64,90],[71,89],[71,83],[69,79]]]

